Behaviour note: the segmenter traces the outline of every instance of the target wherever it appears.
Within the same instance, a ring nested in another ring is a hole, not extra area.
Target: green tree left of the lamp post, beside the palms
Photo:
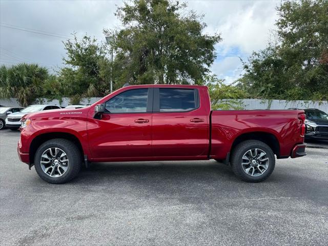
[[[67,57],[65,67],[59,71],[59,84],[64,96],[104,96],[109,93],[110,61],[107,58],[107,45],[98,44],[95,38],[64,42]]]

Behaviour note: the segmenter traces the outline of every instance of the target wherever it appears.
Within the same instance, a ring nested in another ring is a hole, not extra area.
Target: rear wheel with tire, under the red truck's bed
[[[273,172],[275,156],[272,149],[264,142],[247,140],[234,148],[231,166],[240,179],[247,182],[260,182]]]

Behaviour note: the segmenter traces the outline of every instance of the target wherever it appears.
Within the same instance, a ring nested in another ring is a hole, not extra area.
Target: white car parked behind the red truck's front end
[[[43,110],[50,110],[50,109],[60,109],[60,106],[57,105],[31,105],[26,107],[23,110],[20,110],[19,112],[12,113],[7,116],[6,118],[6,127],[8,127],[11,130],[17,130],[20,127],[20,119],[28,113],[35,113],[38,111]]]

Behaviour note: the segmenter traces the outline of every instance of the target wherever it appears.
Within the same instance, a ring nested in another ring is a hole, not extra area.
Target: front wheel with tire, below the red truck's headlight
[[[36,151],[34,166],[37,174],[49,183],[65,183],[77,176],[82,164],[77,146],[67,139],[51,139]]]

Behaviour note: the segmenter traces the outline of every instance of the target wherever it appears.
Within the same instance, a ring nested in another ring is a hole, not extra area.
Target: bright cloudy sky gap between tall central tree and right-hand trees
[[[189,8],[204,14],[205,33],[220,33],[217,60],[211,67],[231,84],[243,73],[242,59],[265,48],[277,19],[276,1],[190,1]]]

